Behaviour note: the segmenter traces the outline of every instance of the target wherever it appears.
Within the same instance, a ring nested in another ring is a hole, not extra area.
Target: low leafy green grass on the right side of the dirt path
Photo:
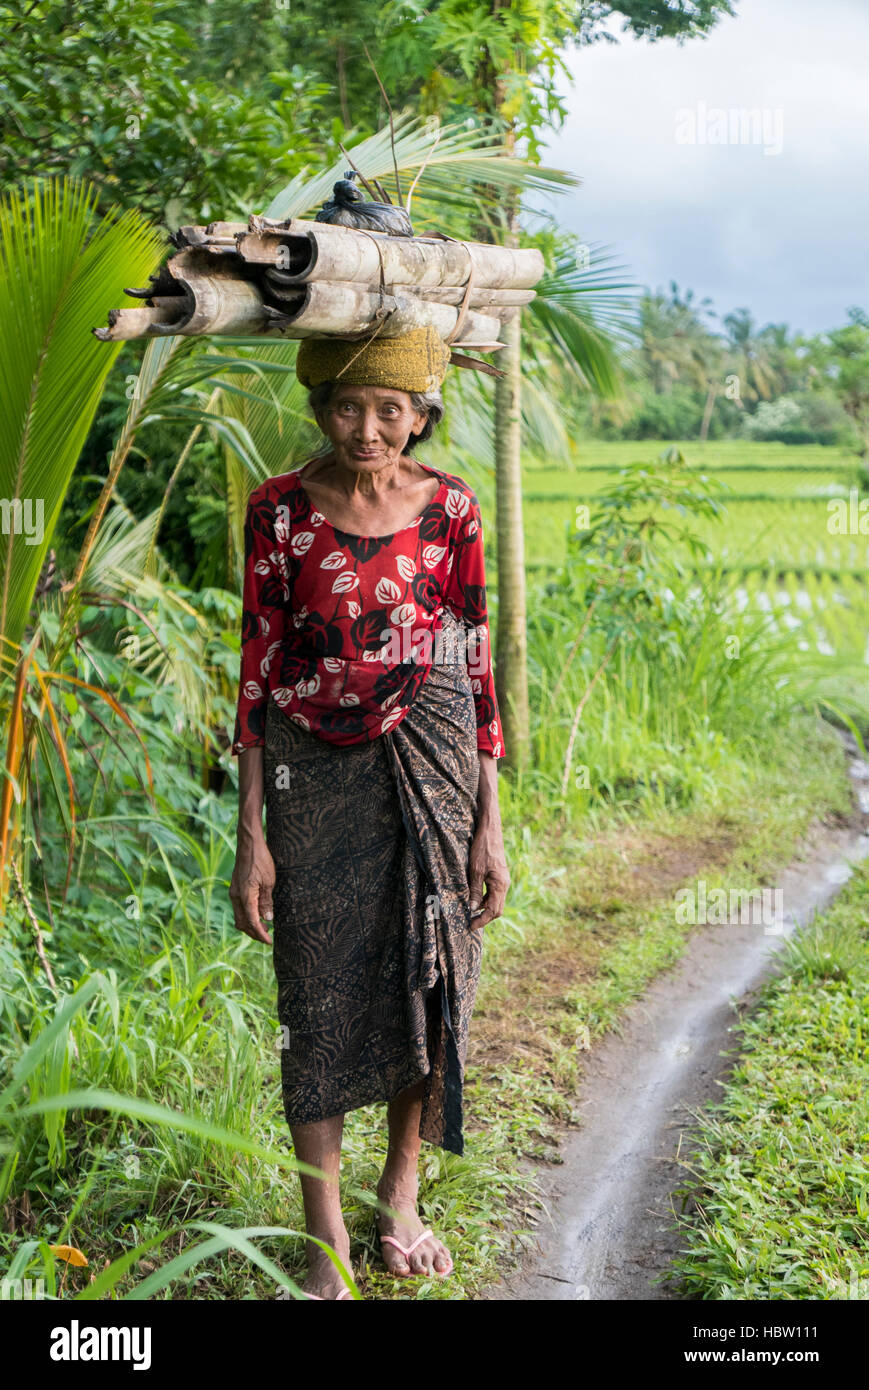
[[[869,1298],[869,862],[787,942],[677,1197],[683,1297]],[[687,1208],[687,1209],[685,1209]]]

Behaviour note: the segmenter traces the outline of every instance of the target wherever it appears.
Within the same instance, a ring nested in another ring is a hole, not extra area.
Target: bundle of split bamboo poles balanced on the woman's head
[[[437,235],[388,236],[299,218],[182,227],[178,253],[113,309],[103,342],[235,336],[395,338],[431,325],[456,348],[492,352],[502,324],[534,299],[538,250]]]

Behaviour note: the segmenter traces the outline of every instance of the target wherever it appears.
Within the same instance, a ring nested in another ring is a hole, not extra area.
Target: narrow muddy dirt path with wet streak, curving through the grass
[[[822,910],[869,855],[869,764],[851,756],[859,810],[816,830],[777,881],[784,931],[704,926],[681,960],[659,976],[588,1058],[576,1108],[583,1127],[562,1145],[563,1165],[541,1184],[549,1216],[539,1252],[489,1289],[488,1300],[672,1300],[656,1283],[680,1247],[670,1193],[691,1151],[690,1109],[720,1098],[733,1058],[733,1024],[774,972],[787,935]]]

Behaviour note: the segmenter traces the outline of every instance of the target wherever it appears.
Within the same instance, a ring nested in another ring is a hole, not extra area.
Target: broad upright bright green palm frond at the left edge
[[[95,217],[96,192],[53,181],[0,200],[0,495],[39,516],[29,538],[0,534],[0,634],[18,644],[72,470],[117,345],[90,334],[125,285],[161,260],[160,234],[138,213]],[[35,539],[36,543],[29,543]]]

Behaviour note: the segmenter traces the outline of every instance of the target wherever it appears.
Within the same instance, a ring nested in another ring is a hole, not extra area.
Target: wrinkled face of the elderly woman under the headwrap
[[[356,473],[377,473],[400,459],[407,441],[423,430],[425,416],[413,409],[406,391],[338,384],[317,424],[338,463]]]

